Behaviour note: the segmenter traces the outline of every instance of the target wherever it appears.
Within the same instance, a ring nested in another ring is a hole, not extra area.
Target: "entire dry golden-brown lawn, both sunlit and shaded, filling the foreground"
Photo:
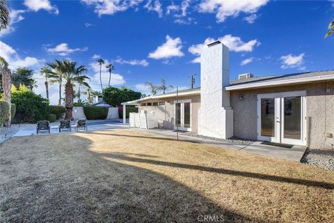
[[[136,130],[0,145],[1,222],[331,222],[334,172]]]

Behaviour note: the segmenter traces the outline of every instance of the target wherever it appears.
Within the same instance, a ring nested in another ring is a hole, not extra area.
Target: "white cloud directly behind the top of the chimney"
[[[256,46],[260,45],[260,42],[257,41],[256,39],[250,40],[245,43],[243,40],[241,40],[240,37],[232,36],[230,34],[218,38],[218,40],[221,41],[221,43],[223,43],[224,45],[226,45],[231,52],[252,52]],[[209,43],[213,43],[214,41],[216,41],[214,38],[206,38],[204,43],[191,45],[188,51],[193,55],[200,56],[202,49],[205,49],[205,47],[207,47]],[[200,63],[200,58],[198,57],[191,62]]]

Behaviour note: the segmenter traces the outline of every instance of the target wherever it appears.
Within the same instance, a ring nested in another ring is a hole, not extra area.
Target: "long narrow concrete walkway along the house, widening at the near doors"
[[[155,129],[154,130],[138,129],[138,130],[150,132],[152,134],[159,134],[165,137],[176,138],[176,132],[173,132],[173,130],[155,130]],[[200,143],[200,144],[219,146],[221,148],[228,148],[228,149],[237,150],[237,151],[241,151],[245,153],[264,155],[267,157],[274,157],[274,158],[279,158],[283,160],[292,160],[296,162],[301,162],[301,158],[303,157],[306,151],[305,146],[292,146],[292,148],[284,148],[280,146],[264,145],[264,144],[261,144],[262,141],[255,141],[251,145],[229,144],[223,141],[202,139],[198,137],[189,137],[189,136],[182,135],[182,133],[179,133],[179,139],[186,140],[186,141],[192,141],[192,142]]]

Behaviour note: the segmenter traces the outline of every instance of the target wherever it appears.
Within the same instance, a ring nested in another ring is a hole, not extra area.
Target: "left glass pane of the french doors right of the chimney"
[[[275,137],[275,98],[261,98],[261,135]]]

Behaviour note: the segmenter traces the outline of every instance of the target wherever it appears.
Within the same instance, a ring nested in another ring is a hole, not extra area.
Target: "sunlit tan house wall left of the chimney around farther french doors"
[[[198,132],[198,109],[200,108],[200,95],[182,96],[179,100],[191,100],[191,132]],[[155,112],[159,128],[173,129],[175,126],[175,103],[176,97],[143,100],[147,102],[165,102],[165,105],[139,106],[138,112]]]

